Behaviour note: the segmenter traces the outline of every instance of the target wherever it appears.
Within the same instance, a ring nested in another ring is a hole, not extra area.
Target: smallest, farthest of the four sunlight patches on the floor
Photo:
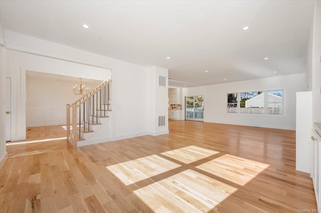
[[[217,153],[219,153],[219,151],[214,151],[212,149],[203,148],[196,145],[190,145],[183,148],[166,151],[161,154],[188,164]]]

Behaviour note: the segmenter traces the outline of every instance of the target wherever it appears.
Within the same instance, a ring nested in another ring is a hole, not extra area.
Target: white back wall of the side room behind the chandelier
[[[73,86],[80,84],[76,80],[45,79],[34,76],[26,78],[26,126],[45,126],[66,124],[66,104],[76,101],[80,95],[73,93]],[[83,79],[90,89],[102,81]]]

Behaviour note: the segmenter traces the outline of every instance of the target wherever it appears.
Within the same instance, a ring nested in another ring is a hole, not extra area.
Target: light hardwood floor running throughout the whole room
[[[299,212],[295,131],[169,121],[170,133],[73,149],[61,126],[7,144],[0,212]],[[308,157],[308,156],[307,156]]]

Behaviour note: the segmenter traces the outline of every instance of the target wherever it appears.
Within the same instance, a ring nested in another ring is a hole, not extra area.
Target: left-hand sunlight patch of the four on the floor
[[[138,159],[106,166],[125,185],[152,177],[157,174],[181,166],[158,155],[150,155]]]

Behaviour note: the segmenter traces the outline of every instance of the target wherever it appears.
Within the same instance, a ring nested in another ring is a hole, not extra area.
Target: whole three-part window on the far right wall
[[[284,114],[283,89],[227,93],[227,112]]]

